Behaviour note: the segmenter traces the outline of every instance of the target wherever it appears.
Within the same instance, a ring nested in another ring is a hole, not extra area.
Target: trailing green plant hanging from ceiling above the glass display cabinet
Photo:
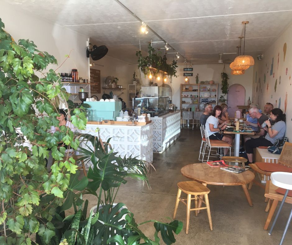
[[[167,72],[167,77],[169,81],[172,81],[172,77],[177,77],[176,75],[176,65],[177,61],[173,60],[171,64],[167,63],[166,55],[161,56],[161,52],[156,50],[148,45],[148,56],[142,56],[141,50],[136,52],[136,56],[138,57],[138,68],[144,73],[145,76],[148,76],[150,73],[150,66],[156,68],[156,73],[158,74],[160,71]]]

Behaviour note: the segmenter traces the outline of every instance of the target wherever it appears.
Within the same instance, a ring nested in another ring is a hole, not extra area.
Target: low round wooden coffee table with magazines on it
[[[205,163],[194,163],[183,167],[180,172],[183,176],[198,181],[203,185],[241,185],[249,206],[253,206],[246,184],[254,179],[254,174],[246,170],[241,173],[231,173],[220,169],[220,167],[211,167]]]

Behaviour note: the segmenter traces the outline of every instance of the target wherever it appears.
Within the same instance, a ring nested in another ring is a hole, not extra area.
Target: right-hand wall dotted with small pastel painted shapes
[[[284,44],[287,50],[284,61]],[[274,58],[273,72],[271,72],[272,58]],[[278,62],[279,59],[279,62]],[[287,74],[286,74],[286,68]],[[281,76],[281,82],[280,82]],[[253,102],[263,109],[267,102],[285,112],[285,98],[287,93],[286,107],[286,136],[292,141],[292,25],[290,25],[278,39],[263,53],[261,61],[256,60],[253,69]],[[277,85],[275,89],[275,83]],[[276,90],[276,91],[275,91]]]

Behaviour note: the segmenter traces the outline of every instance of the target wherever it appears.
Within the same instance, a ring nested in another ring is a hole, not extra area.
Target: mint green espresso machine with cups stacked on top
[[[106,120],[116,120],[116,117],[119,116],[122,108],[121,101],[84,101],[84,104],[89,104],[89,110],[95,110],[98,118],[103,118]]]

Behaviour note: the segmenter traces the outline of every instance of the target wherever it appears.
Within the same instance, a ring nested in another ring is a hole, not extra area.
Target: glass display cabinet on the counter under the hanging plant
[[[142,86],[141,98],[133,98],[133,108],[141,108],[141,113],[151,117],[169,112],[169,89],[158,86]]]

